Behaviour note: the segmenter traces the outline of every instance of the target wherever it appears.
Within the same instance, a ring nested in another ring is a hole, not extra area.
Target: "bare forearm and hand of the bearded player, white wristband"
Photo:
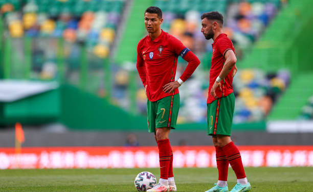
[[[212,89],[211,89],[211,95],[214,98],[217,98],[216,93],[215,93],[216,88],[218,87],[221,90],[220,81],[222,79],[224,79],[232,71],[233,67],[235,67],[233,76],[237,72],[237,67],[236,67],[237,58],[236,58],[236,55],[233,52],[233,50],[229,49],[229,50],[225,51],[225,59],[226,59],[225,64],[224,64],[222,70],[220,71],[220,74],[216,78],[216,80],[212,86]]]

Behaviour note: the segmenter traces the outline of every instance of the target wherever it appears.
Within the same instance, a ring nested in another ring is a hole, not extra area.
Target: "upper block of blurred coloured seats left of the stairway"
[[[85,43],[88,52],[104,58],[114,41],[124,1],[6,0],[0,5],[11,37],[63,37]]]

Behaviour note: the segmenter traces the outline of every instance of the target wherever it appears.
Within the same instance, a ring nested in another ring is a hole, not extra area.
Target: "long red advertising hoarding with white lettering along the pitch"
[[[313,146],[239,146],[244,166],[313,166]],[[174,167],[214,167],[209,146],[172,147]],[[0,148],[0,169],[158,167],[157,147]]]

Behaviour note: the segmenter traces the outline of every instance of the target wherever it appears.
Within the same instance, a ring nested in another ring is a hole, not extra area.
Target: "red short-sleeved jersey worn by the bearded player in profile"
[[[218,35],[215,41],[212,43],[212,48],[213,48],[213,53],[212,53],[211,69],[210,69],[209,97],[208,97],[207,103],[212,103],[214,100],[216,100],[215,98],[211,96],[210,91],[225,63],[226,51],[233,50],[233,52],[235,53],[234,45],[232,41],[227,37],[226,34]],[[220,91],[219,88],[215,89],[215,93],[218,98],[226,97],[230,93],[234,92],[233,71],[234,71],[234,68],[223,80],[220,81],[222,90]]]

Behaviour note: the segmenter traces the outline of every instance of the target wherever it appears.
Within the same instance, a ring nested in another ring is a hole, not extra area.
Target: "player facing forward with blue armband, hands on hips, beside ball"
[[[144,20],[148,35],[137,46],[137,69],[148,98],[148,129],[158,143],[161,172],[160,182],[147,191],[176,191],[168,136],[175,129],[180,107],[178,87],[193,74],[200,61],[180,40],[161,30],[160,8],[147,8]],[[188,65],[175,81],[178,56],[188,61]]]

